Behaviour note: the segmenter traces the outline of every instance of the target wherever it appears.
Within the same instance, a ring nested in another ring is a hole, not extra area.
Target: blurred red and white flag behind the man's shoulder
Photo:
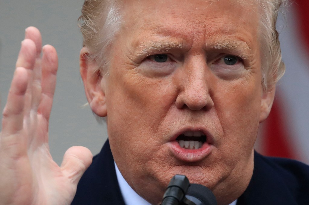
[[[263,123],[259,145],[264,155],[293,158],[305,163],[309,163],[309,109],[299,105],[309,102],[308,10],[308,0],[294,0],[288,7],[288,25],[282,31],[286,37],[281,41],[287,72],[279,81],[272,111]]]

